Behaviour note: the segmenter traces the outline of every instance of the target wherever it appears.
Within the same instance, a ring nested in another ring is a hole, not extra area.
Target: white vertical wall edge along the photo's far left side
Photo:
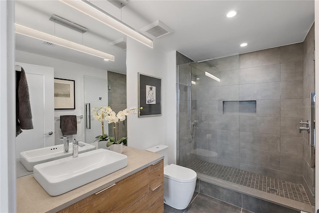
[[[15,212],[14,1],[0,0],[0,212]]]

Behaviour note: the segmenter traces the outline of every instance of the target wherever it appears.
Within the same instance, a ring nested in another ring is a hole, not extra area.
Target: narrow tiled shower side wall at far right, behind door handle
[[[313,51],[315,46],[315,24],[311,27],[308,35],[304,41],[303,48],[303,81],[304,81],[304,93],[303,93],[303,120],[310,119],[310,94],[315,92],[315,61],[313,60]],[[294,56],[297,57],[297,56]],[[303,132],[303,185],[309,197],[309,200],[314,203],[314,169],[310,164],[310,142],[309,133]]]

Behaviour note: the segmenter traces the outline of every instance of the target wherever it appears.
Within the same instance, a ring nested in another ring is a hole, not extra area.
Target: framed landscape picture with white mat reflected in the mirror
[[[75,109],[75,81],[54,78],[54,109]]]

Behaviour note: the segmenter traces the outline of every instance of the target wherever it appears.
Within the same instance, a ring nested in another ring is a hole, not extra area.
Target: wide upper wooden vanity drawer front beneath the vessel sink
[[[148,168],[79,201],[61,213],[121,212],[148,193]],[[147,202],[146,202],[147,203]]]

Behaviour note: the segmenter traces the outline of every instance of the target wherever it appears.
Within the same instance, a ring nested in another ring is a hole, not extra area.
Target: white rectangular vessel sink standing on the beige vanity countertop
[[[35,180],[50,196],[58,196],[128,165],[128,157],[107,149],[38,164],[34,166]]]

